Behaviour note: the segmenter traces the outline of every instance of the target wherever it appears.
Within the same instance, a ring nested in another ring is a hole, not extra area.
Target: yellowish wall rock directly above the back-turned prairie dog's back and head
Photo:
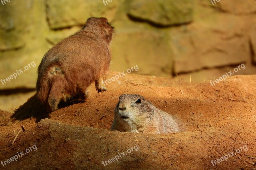
[[[104,5],[102,1],[89,0],[46,0],[47,18],[51,29],[63,29],[71,26],[84,25],[89,17],[113,15],[113,9],[120,2],[112,1]],[[109,12],[112,11],[112,12]],[[109,20],[111,20],[109,18]]]

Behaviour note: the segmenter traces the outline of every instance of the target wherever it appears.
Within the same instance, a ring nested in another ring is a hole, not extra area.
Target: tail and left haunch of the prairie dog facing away
[[[49,111],[58,109],[58,104],[63,99],[63,90],[67,85],[64,72],[60,66],[54,65],[41,74],[38,72],[36,94],[39,101],[47,106]]]

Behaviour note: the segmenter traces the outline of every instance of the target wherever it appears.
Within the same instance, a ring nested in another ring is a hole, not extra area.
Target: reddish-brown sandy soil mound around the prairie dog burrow
[[[116,74],[111,72],[108,77]],[[96,93],[92,85],[90,96],[84,103],[74,101],[77,104],[51,114],[32,97],[14,114],[0,112],[0,161],[10,159],[17,152],[24,153],[34,144],[37,150],[4,167],[0,164],[0,167],[253,169],[256,168],[255,83],[254,75],[230,77],[212,86],[209,82],[186,83],[130,74],[120,78],[120,82],[110,83],[108,92]],[[109,131],[113,110],[123,93],[146,97],[156,107],[178,117],[186,131],[172,134]],[[20,126],[26,131],[21,131],[12,145]],[[105,167],[102,164],[118,153],[127,153],[135,145],[139,151]],[[235,153],[244,145],[247,151],[212,165],[211,160]]]

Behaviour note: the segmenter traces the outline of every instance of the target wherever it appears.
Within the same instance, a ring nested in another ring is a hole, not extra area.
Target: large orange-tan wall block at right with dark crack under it
[[[234,65],[250,60],[249,39],[244,33],[244,19],[248,18],[229,15],[227,22],[227,15],[212,15],[214,16],[209,15],[204,21],[186,27],[186,31],[171,31],[175,73]]]

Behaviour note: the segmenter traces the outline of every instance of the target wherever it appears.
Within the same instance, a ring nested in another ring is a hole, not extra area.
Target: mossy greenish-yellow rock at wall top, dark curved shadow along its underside
[[[189,23],[193,20],[193,5],[190,0],[129,0],[128,15],[158,26]]]

